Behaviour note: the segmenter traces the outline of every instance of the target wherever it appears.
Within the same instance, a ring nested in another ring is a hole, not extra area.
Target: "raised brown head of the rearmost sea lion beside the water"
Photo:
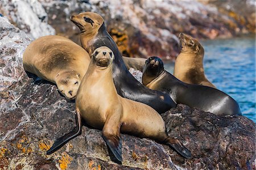
[[[199,41],[184,33],[179,34],[179,48],[180,52],[204,53],[204,48]]]

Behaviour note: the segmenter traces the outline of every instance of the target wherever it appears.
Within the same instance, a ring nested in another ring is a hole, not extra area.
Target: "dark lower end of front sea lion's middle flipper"
[[[122,161],[122,140],[118,136],[114,135],[102,134],[102,138],[105,140],[107,146],[112,151],[114,156],[119,161]]]

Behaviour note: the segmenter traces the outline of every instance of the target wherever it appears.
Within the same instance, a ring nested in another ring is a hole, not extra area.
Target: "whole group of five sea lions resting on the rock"
[[[159,114],[177,103],[218,115],[241,114],[237,102],[215,89],[205,77],[200,63],[203,47],[195,39],[180,34],[182,48],[175,74],[182,82],[164,71],[158,57],[123,58],[101,15],[86,12],[72,15],[71,20],[80,28],[82,47],[61,36],[44,36],[28,45],[23,55],[25,71],[55,83],[68,100],[76,98],[76,129],[57,139],[47,154],[80,135],[83,119],[86,125],[102,130],[103,139],[119,161],[122,161],[120,132],[154,139],[190,158],[191,152],[178,139],[168,136]],[[186,59],[186,53],[193,59]],[[187,60],[187,65],[183,60]],[[189,60],[199,61],[195,62],[196,67],[189,67],[194,64]],[[185,66],[179,66],[180,63]],[[127,67],[143,71],[143,84]]]

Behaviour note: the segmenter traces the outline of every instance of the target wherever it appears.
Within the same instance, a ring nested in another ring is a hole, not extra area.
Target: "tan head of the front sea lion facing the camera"
[[[98,68],[105,69],[112,64],[114,60],[114,53],[109,47],[101,46],[93,51],[92,60]]]

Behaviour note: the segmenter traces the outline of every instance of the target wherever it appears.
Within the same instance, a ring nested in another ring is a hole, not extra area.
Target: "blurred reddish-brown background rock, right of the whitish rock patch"
[[[237,0],[239,1],[239,0]],[[159,56],[175,59],[177,55],[177,35],[180,32],[195,38],[227,38],[241,33],[254,32],[255,19],[237,24],[236,16],[220,13],[220,5],[242,6],[250,10],[255,18],[255,5],[245,1],[55,1],[40,0],[49,16],[49,24],[58,35],[67,36],[80,43],[79,29],[69,20],[72,14],[93,11],[101,14],[110,35],[124,56]],[[50,3],[49,3],[50,2]],[[204,2],[204,3],[203,3]],[[236,8],[237,9],[237,8]],[[240,10],[236,10],[240,11]],[[238,12],[239,13],[239,12]],[[240,18],[245,16],[243,13]],[[248,26],[247,26],[248,25]],[[237,29],[238,28],[238,29]],[[234,31],[234,30],[237,31]]]

